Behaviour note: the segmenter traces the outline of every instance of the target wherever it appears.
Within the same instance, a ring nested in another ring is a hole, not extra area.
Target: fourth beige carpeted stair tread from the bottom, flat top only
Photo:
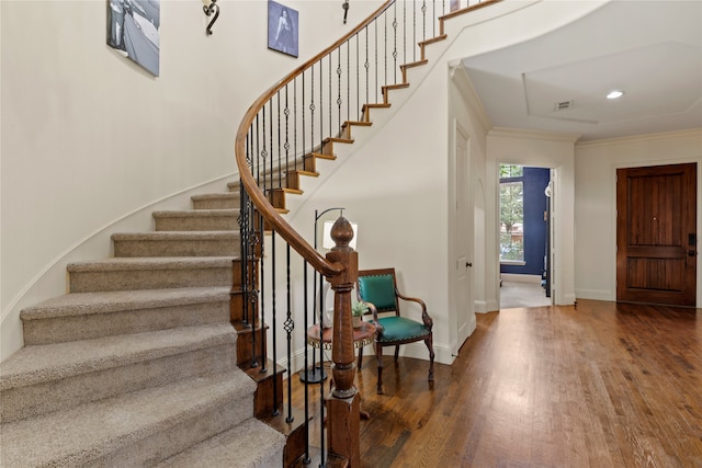
[[[41,320],[57,317],[216,303],[229,300],[230,290],[230,287],[217,286],[72,293],[27,307],[22,310],[20,317],[22,320]]]

